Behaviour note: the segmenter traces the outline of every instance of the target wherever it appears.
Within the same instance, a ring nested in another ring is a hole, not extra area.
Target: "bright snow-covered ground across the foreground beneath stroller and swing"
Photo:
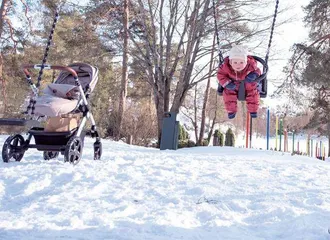
[[[0,137],[2,146],[5,137]],[[0,162],[0,239],[330,239],[330,162],[231,147],[103,140],[93,161]]]

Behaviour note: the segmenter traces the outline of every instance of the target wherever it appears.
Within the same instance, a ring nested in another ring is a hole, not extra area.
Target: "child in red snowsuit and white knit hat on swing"
[[[259,92],[257,82],[253,82],[261,74],[256,60],[248,56],[248,51],[243,46],[234,45],[229,56],[219,67],[217,78],[224,88],[223,100],[228,112],[228,118],[233,119],[237,112],[237,96],[240,81],[245,80],[246,105],[252,118],[257,117],[259,108]]]

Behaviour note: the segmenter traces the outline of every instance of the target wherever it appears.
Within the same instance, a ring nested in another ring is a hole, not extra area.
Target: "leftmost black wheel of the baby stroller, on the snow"
[[[2,160],[4,162],[9,161],[21,161],[25,150],[24,146],[24,138],[20,134],[9,136],[2,147]]]

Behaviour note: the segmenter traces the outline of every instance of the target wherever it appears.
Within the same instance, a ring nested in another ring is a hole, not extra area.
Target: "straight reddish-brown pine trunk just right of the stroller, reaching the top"
[[[122,131],[123,118],[126,109],[126,96],[127,96],[127,83],[128,83],[128,72],[127,72],[127,64],[128,64],[128,18],[129,18],[129,10],[128,10],[128,0],[124,0],[124,17],[123,17],[123,26],[124,26],[124,46],[123,46],[123,66],[122,66],[122,77],[121,77],[121,89],[120,89],[120,97],[119,97],[119,106],[118,106],[118,122],[117,122],[117,132],[115,133],[115,138],[119,140],[120,133]]]

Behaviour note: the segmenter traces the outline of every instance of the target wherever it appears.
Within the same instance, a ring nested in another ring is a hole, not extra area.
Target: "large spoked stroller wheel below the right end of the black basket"
[[[76,165],[82,155],[83,142],[80,137],[71,137],[65,147],[64,161]]]

